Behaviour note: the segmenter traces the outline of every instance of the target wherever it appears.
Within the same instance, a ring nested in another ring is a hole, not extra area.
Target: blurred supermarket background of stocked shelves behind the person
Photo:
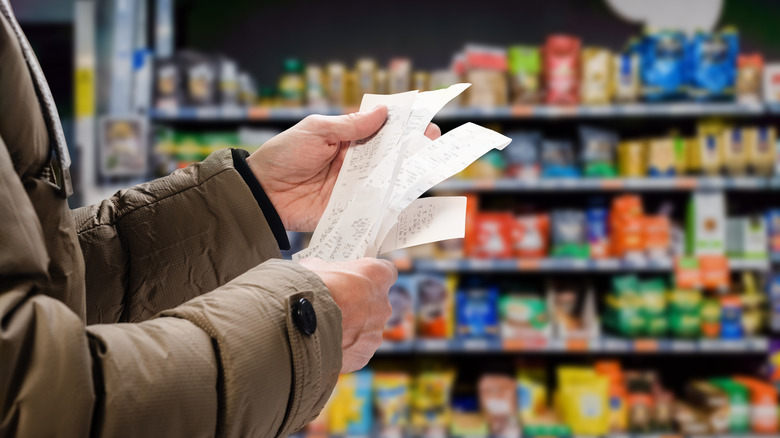
[[[470,82],[435,122],[513,139],[432,190],[465,238],[387,255],[385,344],[302,435],[780,436],[780,3],[11,3],[73,207],[364,93]]]

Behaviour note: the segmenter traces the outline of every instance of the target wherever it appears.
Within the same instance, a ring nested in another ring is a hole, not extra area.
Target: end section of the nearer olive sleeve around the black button
[[[317,329],[304,334],[293,306],[309,300]],[[341,310],[308,269],[270,260],[161,316],[211,336],[223,373],[217,435],[287,436],[316,418],[341,370]]]

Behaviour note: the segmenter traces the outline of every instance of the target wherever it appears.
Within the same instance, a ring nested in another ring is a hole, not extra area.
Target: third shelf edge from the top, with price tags
[[[419,259],[413,262],[416,271],[428,272],[613,272],[671,271],[674,263],[668,260],[648,260],[637,263],[622,259]],[[732,270],[768,271],[768,259],[730,259]]]

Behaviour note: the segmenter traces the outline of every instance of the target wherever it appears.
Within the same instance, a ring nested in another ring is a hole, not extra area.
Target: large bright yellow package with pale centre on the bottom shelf
[[[558,369],[557,403],[574,435],[601,436],[609,431],[609,379],[593,369]]]

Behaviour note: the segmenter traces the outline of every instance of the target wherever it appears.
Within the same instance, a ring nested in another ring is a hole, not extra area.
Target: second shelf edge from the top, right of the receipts
[[[549,192],[549,191],[691,191],[780,189],[780,178],[680,177],[680,178],[541,178],[536,180],[450,179],[432,192]]]

